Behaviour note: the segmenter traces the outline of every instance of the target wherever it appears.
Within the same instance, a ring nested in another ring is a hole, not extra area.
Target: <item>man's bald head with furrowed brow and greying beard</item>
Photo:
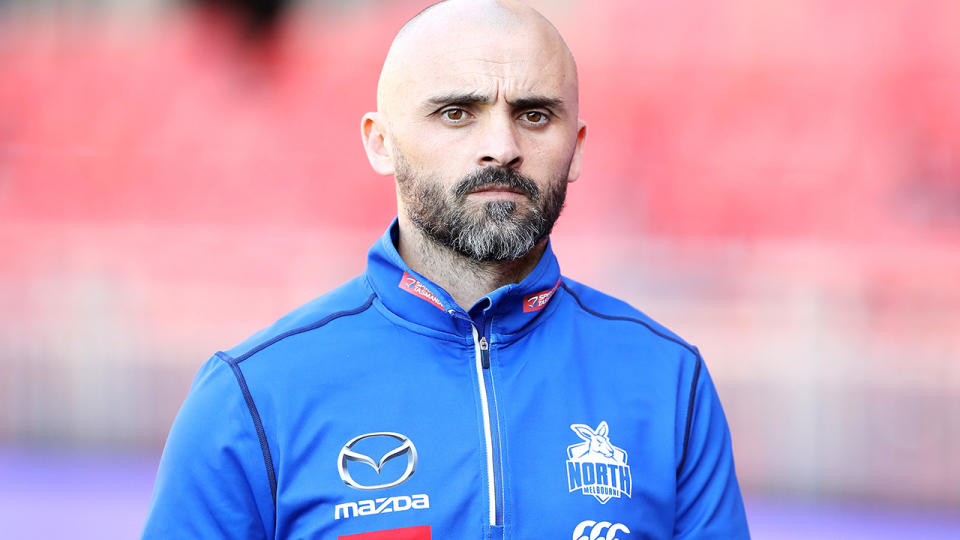
[[[363,142],[396,177],[402,227],[478,261],[550,233],[586,128],[573,56],[542,15],[508,0],[427,8],[394,39],[377,108]]]

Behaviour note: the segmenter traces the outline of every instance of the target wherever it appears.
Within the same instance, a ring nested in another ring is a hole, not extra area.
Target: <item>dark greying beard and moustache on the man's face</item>
[[[541,190],[516,169],[487,166],[444,191],[442,182],[418,174],[398,156],[395,176],[410,221],[434,243],[477,262],[512,261],[529,253],[550,235],[567,195],[566,174]],[[488,186],[517,190],[526,201],[467,200]]]

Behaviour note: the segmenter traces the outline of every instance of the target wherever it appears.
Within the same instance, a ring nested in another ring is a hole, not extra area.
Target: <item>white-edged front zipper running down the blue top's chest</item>
[[[477,384],[480,386],[480,409],[483,415],[483,439],[486,452],[487,500],[490,507],[488,517],[490,526],[495,527],[502,525],[503,521],[503,486],[500,474],[500,426],[496,420],[496,396],[493,390],[493,377],[490,373],[490,342],[487,341],[482,330],[477,329],[472,319],[452,309],[448,313],[470,322],[470,327],[473,329],[474,363]],[[484,329],[483,325],[481,329]]]

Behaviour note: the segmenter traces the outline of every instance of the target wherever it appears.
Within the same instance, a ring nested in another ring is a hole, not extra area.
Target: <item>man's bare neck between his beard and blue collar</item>
[[[546,247],[544,239],[519,259],[480,262],[437,244],[401,220],[397,251],[411,269],[443,287],[460,307],[469,310],[490,292],[527,277]]]

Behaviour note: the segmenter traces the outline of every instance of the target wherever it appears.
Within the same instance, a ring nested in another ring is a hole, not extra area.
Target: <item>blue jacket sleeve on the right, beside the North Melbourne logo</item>
[[[730,430],[703,360],[697,357],[688,428],[677,471],[675,539],[749,539],[733,465]]]

